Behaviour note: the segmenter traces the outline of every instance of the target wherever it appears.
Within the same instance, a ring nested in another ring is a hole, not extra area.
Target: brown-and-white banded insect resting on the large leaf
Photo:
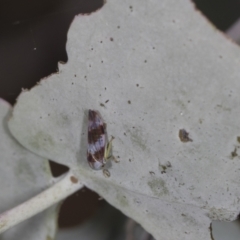
[[[106,124],[97,111],[88,111],[87,160],[94,170],[101,169],[111,156],[112,140],[107,142]]]

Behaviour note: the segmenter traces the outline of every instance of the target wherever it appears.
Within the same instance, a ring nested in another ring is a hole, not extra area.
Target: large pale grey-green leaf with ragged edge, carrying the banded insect
[[[239,47],[190,1],[108,1],[77,16],[67,64],[23,92],[9,128],[68,165],[156,239],[210,240],[240,208]],[[87,112],[115,137],[110,177],[86,160]]]

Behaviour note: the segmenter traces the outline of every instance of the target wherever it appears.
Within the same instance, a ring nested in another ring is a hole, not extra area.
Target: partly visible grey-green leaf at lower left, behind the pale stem
[[[11,106],[0,99],[0,213],[6,212],[6,214],[9,209],[46,189],[52,180],[48,161],[24,149],[11,136],[7,127],[10,113]],[[57,213],[55,205],[12,227],[1,234],[0,239],[54,239],[57,230]],[[5,222],[5,224],[9,223]]]

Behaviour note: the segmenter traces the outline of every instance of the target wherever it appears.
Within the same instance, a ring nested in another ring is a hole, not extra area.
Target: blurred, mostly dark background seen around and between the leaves
[[[240,42],[240,0],[195,0],[194,3],[216,28]],[[65,46],[74,16],[91,14],[103,4],[102,0],[0,0],[0,98],[13,105],[22,89],[29,89],[57,72],[58,62],[68,61]],[[54,176],[68,170],[53,162],[51,168]],[[101,239],[105,240],[153,239],[137,223],[88,189],[64,201],[59,226],[57,239],[60,240],[80,239],[81,234],[89,236],[87,239],[100,240],[94,231],[100,231]],[[214,222],[212,228],[215,240],[240,239],[238,221]]]

